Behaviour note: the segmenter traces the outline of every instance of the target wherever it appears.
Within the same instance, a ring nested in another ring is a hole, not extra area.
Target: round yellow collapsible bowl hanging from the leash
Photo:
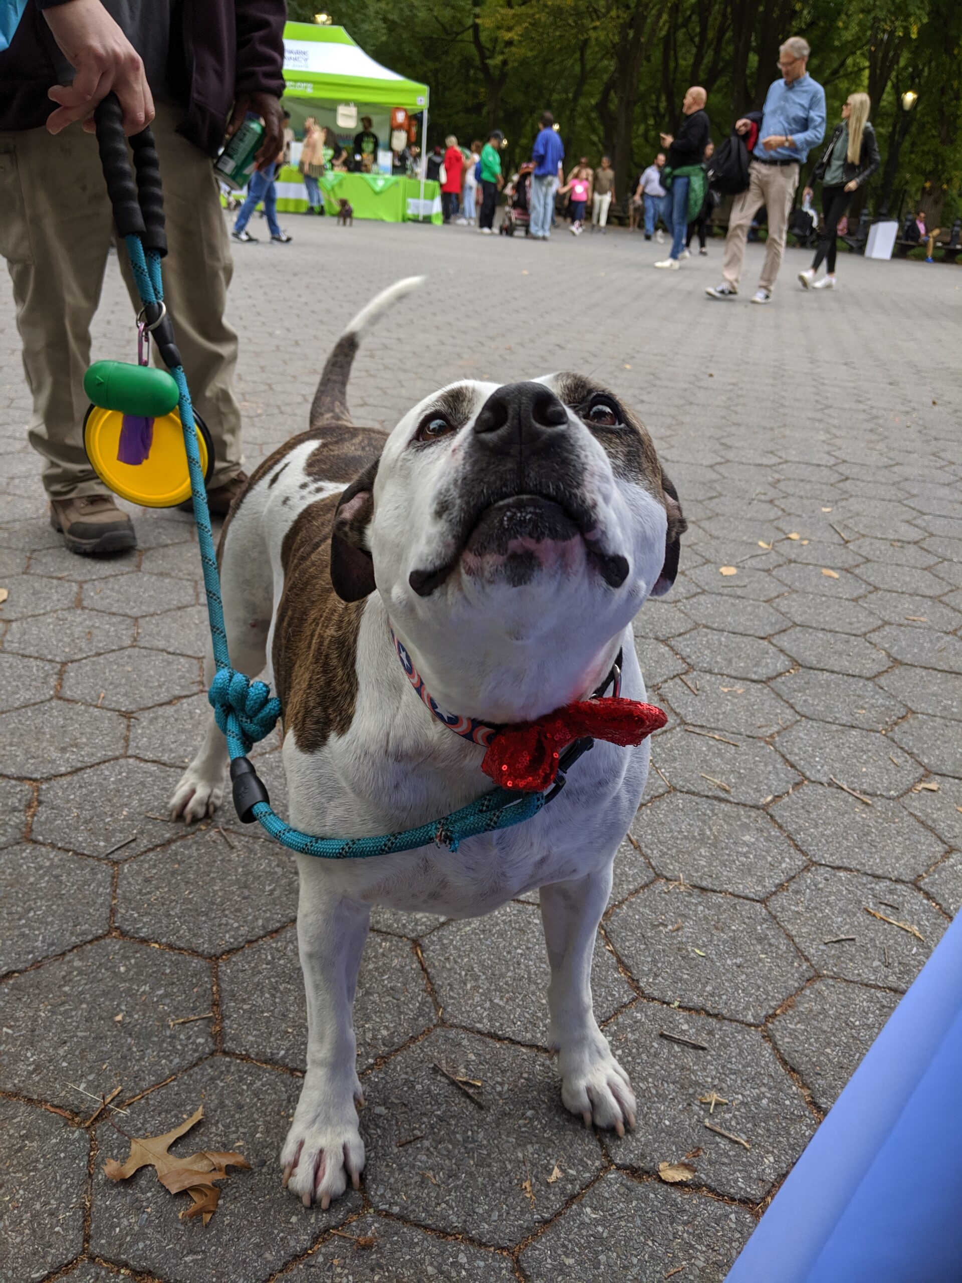
[[[203,420],[196,420],[198,449],[204,482],[214,468],[214,446]],[[177,411],[154,420],[150,453],[142,463],[122,463],[118,458],[123,414],[118,409],[91,405],[83,420],[83,448],[90,466],[114,494],[142,508],[176,508],[190,499],[187,452]]]

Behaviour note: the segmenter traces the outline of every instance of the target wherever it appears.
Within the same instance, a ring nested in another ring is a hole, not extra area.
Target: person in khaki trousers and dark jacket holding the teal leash
[[[258,163],[281,150],[285,17],[285,0],[27,0],[0,51],[0,254],[33,396],[27,435],[45,458],[51,523],[72,552],[136,547],[82,440],[81,381],[114,235],[94,106],[113,90],[126,132],[148,123],[154,131],[165,296],[192,399],[214,439],[209,498],[223,514],[244,481],[244,459],[232,387],[237,335],[223,316],[232,263],[210,159],[246,112],[266,124]],[[118,259],[139,308],[122,244]]]

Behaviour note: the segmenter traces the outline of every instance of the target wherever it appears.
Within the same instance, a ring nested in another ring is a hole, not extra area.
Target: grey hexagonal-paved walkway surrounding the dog
[[[717,241],[676,275],[617,231],[289,225],[291,246],[236,254],[251,462],[307,426],[353,310],[427,271],[358,359],[358,422],[390,425],[459,375],[570,367],[637,407],[679,486],[684,572],[636,625],[670,725],[595,961],[639,1128],[595,1135],[562,1109],[534,903],[475,922],[378,912],[357,1003],[364,1188],[326,1212],[281,1191],[304,1065],[294,869],[230,810],[190,833],[163,817],[205,707],[191,523],[137,513],[121,561],[58,545],[4,289],[0,1279],[714,1283],[962,903],[944,345],[962,273],[843,258],[836,294],[803,295],[790,250],[755,308],[704,298]],[[749,293],[759,263],[752,248]],[[115,263],[95,350],[131,359]],[[263,765],[283,812],[276,742]],[[250,1159],[207,1229],[153,1173],[104,1178],[127,1141],[90,1120],[114,1089],[124,1132],[203,1103],[177,1150]],[[686,1157],[686,1185],[658,1179]]]

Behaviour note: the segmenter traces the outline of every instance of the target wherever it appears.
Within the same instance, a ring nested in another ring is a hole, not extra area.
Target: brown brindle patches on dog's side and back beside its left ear
[[[325,481],[353,481],[381,454],[384,432],[339,425],[318,438],[308,472]],[[283,591],[277,607],[273,671],[285,734],[304,753],[317,753],[330,735],[344,735],[358,695],[357,648],[362,602],[342,602],[331,584],[331,527],[340,495],[308,504],[283,536]]]

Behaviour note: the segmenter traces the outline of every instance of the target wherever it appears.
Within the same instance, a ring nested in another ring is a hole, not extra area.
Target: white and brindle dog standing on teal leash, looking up
[[[231,659],[251,677],[267,668],[281,698],[290,822],[312,834],[399,831],[491,788],[484,749],[418,698],[392,635],[437,706],[466,720],[526,722],[584,699],[620,653],[623,695],[644,699],[631,621],[677,571],[675,489],[641,423],[589,378],[464,380],[387,435],[351,423],[359,336],[419,280],[350,323],[310,430],[260,464],[221,538]],[[585,1125],[634,1126],[590,975],[648,760],[646,740],[599,742],[550,806],[457,852],[298,856],[308,1067],[281,1165],[305,1205],[327,1207],[364,1165],[351,1006],[372,905],[475,917],[539,888],[562,1101]],[[213,813],[226,766],[212,718],[172,813]]]

